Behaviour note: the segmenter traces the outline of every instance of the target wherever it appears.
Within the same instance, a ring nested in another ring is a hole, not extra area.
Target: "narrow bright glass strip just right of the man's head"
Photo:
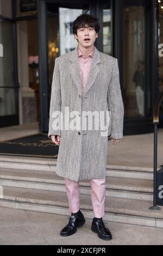
[[[108,6],[103,6],[103,52],[111,55],[111,10]]]

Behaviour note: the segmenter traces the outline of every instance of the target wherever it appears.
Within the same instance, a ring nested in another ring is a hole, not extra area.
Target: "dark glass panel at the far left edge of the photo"
[[[2,56],[0,57],[0,116],[3,116],[16,113],[14,88],[14,44],[11,22],[0,20],[0,42]]]

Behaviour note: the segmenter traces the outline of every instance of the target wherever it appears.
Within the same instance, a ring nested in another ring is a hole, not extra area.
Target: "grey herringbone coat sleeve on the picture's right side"
[[[112,76],[108,88],[108,109],[111,112],[110,137],[120,139],[123,137],[124,106],[120,87],[120,74],[118,60],[112,68]]]

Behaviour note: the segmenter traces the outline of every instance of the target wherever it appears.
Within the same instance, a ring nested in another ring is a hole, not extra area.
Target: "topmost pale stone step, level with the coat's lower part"
[[[56,159],[0,156],[0,168],[55,172],[56,164]],[[106,176],[153,180],[153,168],[107,165]]]

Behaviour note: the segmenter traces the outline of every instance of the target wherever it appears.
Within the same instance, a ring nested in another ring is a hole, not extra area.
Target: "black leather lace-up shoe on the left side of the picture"
[[[75,214],[71,214],[68,219],[68,224],[60,232],[61,236],[68,236],[76,233],[77,228],[82,227],[85,223],[85,218],[80,210]]]

